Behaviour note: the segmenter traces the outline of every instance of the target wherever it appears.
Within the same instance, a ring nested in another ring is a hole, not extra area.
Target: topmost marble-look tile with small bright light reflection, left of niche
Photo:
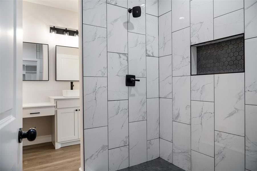
[[[189,26],[190,1],[172,0],[172,32]]]

